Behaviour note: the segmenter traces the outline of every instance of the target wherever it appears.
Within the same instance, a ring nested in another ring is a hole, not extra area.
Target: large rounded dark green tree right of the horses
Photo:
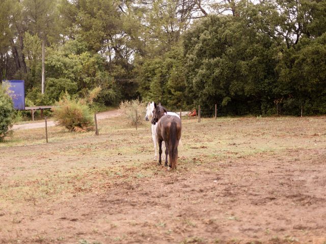
[[[229,113],[261,113],[275,80],[271,45],[246,19],[210,16],[200,21],[184,36],[188,93],[203,106],[218,103]]]

